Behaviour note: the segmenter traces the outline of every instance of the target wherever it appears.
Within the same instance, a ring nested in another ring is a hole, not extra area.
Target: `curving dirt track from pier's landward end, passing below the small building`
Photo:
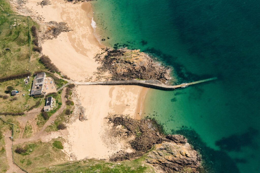
[[[21,144],[21,143],[24,143],[24,142],[36,141],[36,140],[40,139],[43,135],[46,135],[46,132],[44,131],[44,130],[46,129],[46,127],[47,127],[48,125],[50,125],[51,122],[55,120],[55,118],[57,117],[57,115],[61,114],[61,113],[63,112],[63,110],[66,108],[66,103],[65,103],[66,98],[64,97],[65,94],[66,94],[65,91],[63,91],[62,94],[61,94],[62,105],[61,105],[60,109],[59,109],[57,112],[55,112],[55,113],[48,119],[48,121],[43,125],[42,129],[41,129],[38,133],[36,133],[33,137],[30,137],[30,138],[18,138],[18,139],[16,139],[16,140],[14,141],[14,145],[15,145],[15,144]],[[39,111],[39,112],[40,112],[40,111]],[[39,112],[38,112],[38,114],[39,114]],[[25,120],[24,120],[24,121],[25,121]],[[25,122],[25,124],[26,124],[26,122]],[[24,126],[25,126],[25,124],[24,124]]]

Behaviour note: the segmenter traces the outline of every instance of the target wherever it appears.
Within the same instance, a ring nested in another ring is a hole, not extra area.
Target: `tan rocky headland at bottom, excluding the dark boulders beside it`
[[[189,143],[155,144],[154,149],[148,152],[145,161],[165,172],[196,172],[199,167],[198,154]]]

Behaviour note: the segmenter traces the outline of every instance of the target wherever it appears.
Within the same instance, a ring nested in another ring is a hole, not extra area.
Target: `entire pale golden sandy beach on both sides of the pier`
[[[24,6],[31,11],[25,10],[28,13],[23,15],[35,15],[33,18],[40,24],[42,31],[47,30],[43,22],[67,23],[72,30],[62,32],[57,38],[44,40],[43,54],[49,56],[73,80],[95,81],[100,64],[94,57],[105,46],[94,36],[91,3],[73,4],[55,0],[42,8],[37,5],[37,0],[29,0]],[[37,14],[44,16],[43,20],[37,20]],[[110,138],[107,134],[111,127],[107,124],[106,117],[108,114],[124,114],[140,119],[147,92],[148,89],[141,86],[78,86],[75,94],[86,109],[88,120],[81,122],[77,118],[75,122],[67,124],[64,151],[76,156],[78,160],[86,157],[108,159],[117,151],[131,151],[125,141]]]

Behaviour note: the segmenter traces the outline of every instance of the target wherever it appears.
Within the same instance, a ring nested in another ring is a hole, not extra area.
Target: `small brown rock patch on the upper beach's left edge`
[[[43,39],[53,39],[57,38],[58,35],[61,34],[61,32],[69,32],[71,29],[67,26],[67,23],[65,22],[55,22],[50,21],[46,22],[46,29],[42,34]]]

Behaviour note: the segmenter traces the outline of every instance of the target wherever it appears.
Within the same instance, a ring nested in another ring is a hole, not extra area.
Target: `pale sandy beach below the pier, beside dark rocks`
[[[77,120],[68,125],[69,141],[64,144],[64,150],[75,154],[77,159],[107,159],[117,151],[129,151],[129,146],[123,141],[110,138],[106,133],[109,127],[105,117],[108,113],[139,116],[137,105],[143,100],[138,98],[147,90],[139,86],[78,86],[77,93],[86,108],[88,120]]]

